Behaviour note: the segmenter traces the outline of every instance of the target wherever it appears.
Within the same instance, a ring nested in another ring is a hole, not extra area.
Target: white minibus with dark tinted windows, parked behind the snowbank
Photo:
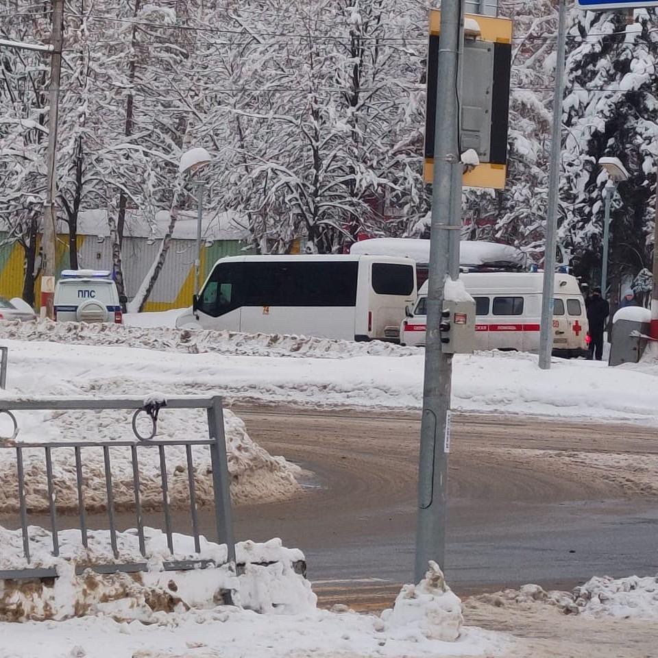
[[[416,301],[413,260],[389,256],[232,256],[212,268],[176,326],[398,342]]]

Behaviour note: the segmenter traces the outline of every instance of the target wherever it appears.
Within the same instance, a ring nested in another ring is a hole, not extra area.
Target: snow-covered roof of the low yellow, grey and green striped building
[[[155,217],[147,219],[143,212],[127,210],[125,217],[125,236],[136,238],[163,238],[169,226],[169,211],[159,210]],[[60,221],[58,231],[69,232],[69,226]],[[77,232],[80,235],[108,237],[108,215],[106,210],[83,210],[77,220]],[[241,225],[239,217],[223,212],[220,215],[205,215],[202,220],[202,237],[204,240],[244,240],[249,232]],[[195,240],[197,237],[197,215],[194,211],[180,211],[173,237],[180,240]]]

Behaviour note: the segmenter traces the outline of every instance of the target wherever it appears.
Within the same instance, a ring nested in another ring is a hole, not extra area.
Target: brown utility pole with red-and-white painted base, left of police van
[[[57,246],[57,127],[60,101],[60,77],[62,72],[62,32],[64,27],[64,0],[53,0],[53,48],[50,66],[50,101],[48,112],[48,157],[46,202],[43,206],[41,276],[41,317],[53,318],[55,296],[56,246]]]

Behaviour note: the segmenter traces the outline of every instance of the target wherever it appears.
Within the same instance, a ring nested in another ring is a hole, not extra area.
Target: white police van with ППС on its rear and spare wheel
[[[59,322],[123,324],[117,284],[108,271],[65,269],[55,288],[54,307]]]

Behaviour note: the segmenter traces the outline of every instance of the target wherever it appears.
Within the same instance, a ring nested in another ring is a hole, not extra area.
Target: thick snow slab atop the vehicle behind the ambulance
[[[406,256],[416,263],[429,263],[430,241],[413,238],[371,238],[354,243],[350,254],[372,254],[374,256]],[[524,265],[525,256],[516,247],[494,242],[462,241],[459,245],[460,265],[487,265],[487,263],[510,263]]]

